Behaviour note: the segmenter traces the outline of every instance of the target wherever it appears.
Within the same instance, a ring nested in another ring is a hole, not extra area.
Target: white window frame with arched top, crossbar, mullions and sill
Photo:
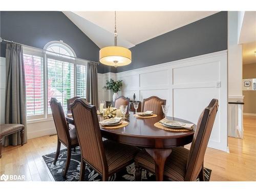
[[[61,41],[51,41],[47,45],[48,46],[50,46],[52,44],[55,45],[56,43],[58,43],[59,45],[65,44],[65,43],[63,43]],[[73,49],[70,46],[68,46],[67,44],[65,44],[63,46],[67,46],[68,49],[70,49],[72,52],[74,52]],[[45,48],[46,48],[46,46],[45,46]],[[52,114],[48,114],[48,71],[47,71],[47,59],[50,58],[50,59],[54,59],[54,60],[58,60],[58,61],[73,63],[73,65],[74,65],[74,96],[76,96],[76,86],[77,86],[77,79],[76,79],[77,65],[87,67],[88,61],[84,60],[84,59],[77,58],[75,53],[73,53],[74,56],[72,56],[72,58],[67,58],[67,57],[53,55],[53,54],[51,54],[47,50],[40,50],[40,49],[31,48],[31,47],[27,47],[27,46],[23,47],[23,54],[42,57],[43,65],[44,65],[43,66],[43,70],[44,70],[44,83],[43,83],[44,84],[43,85],[43,90],[44,90],[44,114],[40,114],[40,115],[27,115],[27,122],[28,123],[34,123],[34,122],[41,122],[41,121],[52,120]]]

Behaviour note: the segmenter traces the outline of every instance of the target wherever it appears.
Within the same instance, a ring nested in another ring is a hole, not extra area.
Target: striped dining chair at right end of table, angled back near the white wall
[[[184,147],[173,148],[172,153],[165,161],[163,170],[163,175],[169,180],[195,181],[199,177],[200,181],[204,181],[204,154],[218,107],[218,99],[212,99],[201,113],[190,150]],[[155,162],[145,150],[136,155],[135,167],[136,181],[141,180],[141,167],[155,173]]]

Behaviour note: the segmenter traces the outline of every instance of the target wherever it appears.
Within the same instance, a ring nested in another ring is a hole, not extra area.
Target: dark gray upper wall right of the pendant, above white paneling
[[[132,51],[132,63],[129,66],[117,68],[115,72],[157,65],[226,49],[227,12],[225,11],[136,45],[130,49]]]

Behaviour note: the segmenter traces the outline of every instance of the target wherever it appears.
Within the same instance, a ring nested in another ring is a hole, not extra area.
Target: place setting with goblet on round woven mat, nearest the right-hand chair
[[[164,119],[156,122],[154,124],[155,127],[162,130],[175,131],[175,132],[185,132],[185,131],[191,131],[194,129],[194,126],[195,126],[194,123],[184,123],[180,121],[167,119],[166,114],[168,112],[168,109],[169,109],[168,105],[162,105]]]

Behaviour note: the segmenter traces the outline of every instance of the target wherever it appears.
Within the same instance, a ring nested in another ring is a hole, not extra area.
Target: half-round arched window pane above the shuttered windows
[[[45,45],[44,49],[49,51],[48,54],[50,55],[67,58],[76,57],[74,50],[63,41],[50,41]]]

